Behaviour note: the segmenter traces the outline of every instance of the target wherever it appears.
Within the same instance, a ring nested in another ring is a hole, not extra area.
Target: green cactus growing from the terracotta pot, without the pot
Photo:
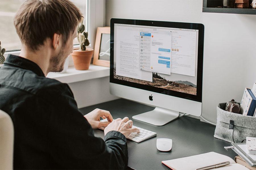
[[[90,44],[89,40],[87,39],[88,38],[88,32],[84,32],[84,25],[83,25],[83,20],[81,22],[81,25],[77,27],[77,39],[79,41],[79,44],[80,44],[80,50],[81,51],[85,51],[86,50],[86,47],[85,46],[88,46]]]

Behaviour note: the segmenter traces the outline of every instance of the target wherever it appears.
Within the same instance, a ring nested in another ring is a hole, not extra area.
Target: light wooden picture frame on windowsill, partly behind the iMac
[[[110,67],[110,27],[98,27],[93,64]]]

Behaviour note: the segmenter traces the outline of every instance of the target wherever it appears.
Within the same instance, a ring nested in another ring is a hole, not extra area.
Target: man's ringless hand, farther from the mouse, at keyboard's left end
[[[94,109],[90,113],[84,115],[87,121],[90,123],[93,129],[97,129],[100,127],[106,127],[110,122],[113,121],[113,117],[111,116],[109,111]],[[103,119],[108,119],[108,122],[100,122],[100,117]]]

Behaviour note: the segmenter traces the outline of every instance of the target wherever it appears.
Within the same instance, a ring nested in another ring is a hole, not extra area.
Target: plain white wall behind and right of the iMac
[[[256,16],[203,13],[202,0],[106,0],[111,18],[193,22],[205,25],[203,112],[216,122],[216,106],[241,101],[256,82]]]

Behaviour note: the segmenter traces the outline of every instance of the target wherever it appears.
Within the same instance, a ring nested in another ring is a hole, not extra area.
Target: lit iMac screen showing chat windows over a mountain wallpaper
[[[113,43],[114,79],[201,101],[199,29],[114,23]]]

